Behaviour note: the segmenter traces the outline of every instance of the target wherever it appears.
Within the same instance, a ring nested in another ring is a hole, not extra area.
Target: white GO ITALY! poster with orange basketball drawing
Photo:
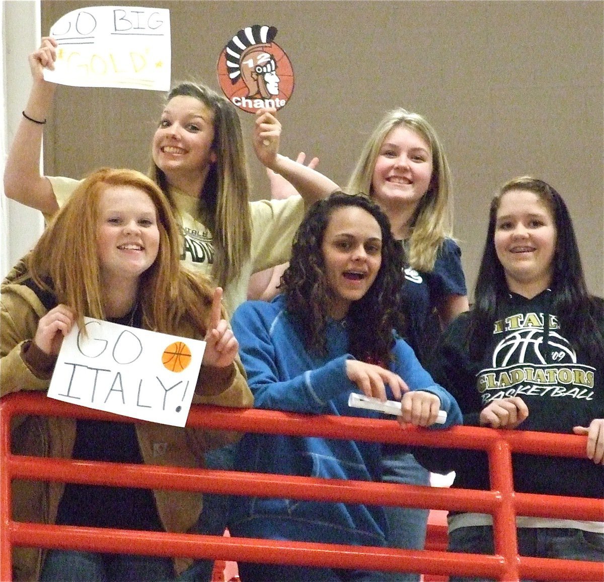
[[[85,318],[63,339],[48,396],[185,426],[205,342]]]

